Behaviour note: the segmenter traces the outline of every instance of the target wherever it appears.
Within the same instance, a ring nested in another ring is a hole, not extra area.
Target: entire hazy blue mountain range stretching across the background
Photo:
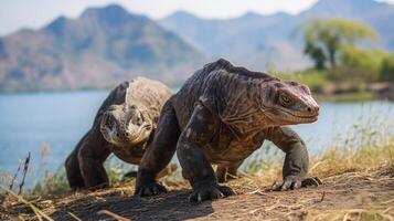
[[[216,57],[253,70],[302,70],[311,61],[292,33],[315,17],[362,21],[376,29],[380,46],[394,51],[394,6],[373,0],[319,0],[298,14],[231,19],[177,11],[157,21],[108,4],[0,38],[0,91],[106,87],[137,75],[180,84]]]

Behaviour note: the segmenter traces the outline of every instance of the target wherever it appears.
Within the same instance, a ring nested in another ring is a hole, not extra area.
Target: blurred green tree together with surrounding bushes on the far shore
[[[394,54],[374,49],[376,32],[345,19],[310,19],[296,29],[302,36],[304,52],[315,67],[296,73],[278,73],[285,80],[307,84],[318,98],[336,101],[372,99],[374,83],[394,82]]]

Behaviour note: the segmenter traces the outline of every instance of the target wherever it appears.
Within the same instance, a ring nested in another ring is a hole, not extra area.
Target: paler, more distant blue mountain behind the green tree
[[[225,56],[253,69],[284,71],[311,64],[302,54],[302,43],[294,38],[294,31],[306,19],[319,17],[364,22],[380,34],[380,46],[394,50],[394,6],[373,0],[319,0],[296,15],[248,12],[227,20],[201,19],[179,11],[159,23],[212,56]]]

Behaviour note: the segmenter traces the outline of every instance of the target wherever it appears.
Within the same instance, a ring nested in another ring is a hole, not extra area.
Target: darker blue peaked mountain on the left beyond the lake
[[[103,87],[137,75],[172,83],[202,59],[173,32],[110,4],[0,38],[0,90]]]

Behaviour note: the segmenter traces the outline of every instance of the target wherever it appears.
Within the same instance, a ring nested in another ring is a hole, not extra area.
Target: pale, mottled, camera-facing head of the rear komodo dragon
[[[137,105],[111,105],[103,114],[100,131],[115,146],[137,145],[146,141],[152,131],[152,120]]]

